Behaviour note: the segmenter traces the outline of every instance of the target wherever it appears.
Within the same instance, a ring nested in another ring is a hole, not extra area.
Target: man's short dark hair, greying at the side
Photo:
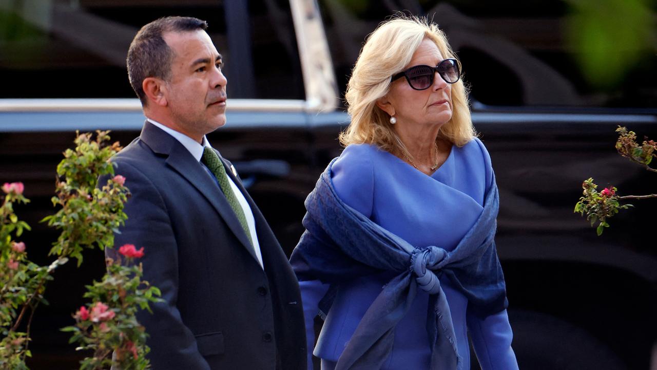
[[[141,105],[146,106],[148,102],[141,86],[145,78],[157,77],[165,81],[171,78],[173,51],[164,41],[164,34],[207,28],[205,20],[189,16],[167,16],[148,23],[137,32],[127,51],[126,64],[130,85],[141,100]]]

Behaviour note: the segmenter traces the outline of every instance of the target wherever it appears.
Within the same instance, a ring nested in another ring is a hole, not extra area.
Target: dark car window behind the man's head
[[[0,1],[0,98],[135,97],[130,41],[161,16],[207,20],[233,98],[304,99],[288,1]]]

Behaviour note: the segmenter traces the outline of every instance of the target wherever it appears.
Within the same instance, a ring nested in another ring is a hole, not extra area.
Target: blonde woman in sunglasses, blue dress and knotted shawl
[[[435,24],[371,34],[346,92],[346,146],[306,200],[292,253],[312,369],[517,369],[495,251],[497,186],[459,61]]]

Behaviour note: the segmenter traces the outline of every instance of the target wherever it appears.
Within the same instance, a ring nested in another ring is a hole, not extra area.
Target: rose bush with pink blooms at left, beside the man
[[[26,357],[31,356],[30,325],[36,307],[43,301],[47,282],[53,279],[57,267],[71,257],[82,263],[85,249],[112,248],[114,232],[127,218],[123,208],[129,197],[124,176],[114,176],[106,184],[97,184],[99,176],[114,174],[109,159],[121,147],[106,145],[108,132],[78,134],[75,149],[67,149],[57,166],[59,180],[53,205],[57,213],[43,221],[60,230],[50,254],[55,261],[39,266],[28,259],[26,245],[15,240],[30,226],[20,221],[14,206],[28,203],[20,182],[5,183],[4,201],[0,207],[0,369],[27,369]],[[138,309],[149,309],[157,302],[159,290],[142,281],[141,265],[133,259],[143,256],[143,248],[126,248],[125,262],[108,260],[107,273],[101,282],[87,286],[85,298],[91,304],[80,307],[74,315],[75,327],[71,342],[78,341],[80,350],[93,350],[91,357],[81,361],[81,369],[104,369],[116,365],[121,369],[145,369],[146,334],[137,323]],[[85,325],[87,325],[85,327]],[[19,331],[18,328],[26,328]],[[112,352],[116,360],[112,361]],[[127,356],[129,355],[129,356]],[[125,359],[130,359],[129,361]]]

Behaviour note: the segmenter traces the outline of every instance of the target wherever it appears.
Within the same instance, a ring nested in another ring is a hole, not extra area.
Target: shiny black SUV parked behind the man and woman
[[[109,129],[124,145],[139,135],[144,117],[125,55],[139,27],[166,15],[208,20],[229,80],[228,123],[209,139],[289,255],[304,199],[342,150],[337,136],[350,119],[341,97],[363,40],[406,9],[447,32],[472,90],[499,185],[497,248],[520,367],[648,369],[657,352],[655,200],[637,201],[600,237],[573,209],[590,176],[622,194],[657,187],[614,150],[618,125],[657,138],[654,55],[614,90],[596,90],[565,42],[566,3],[526,3],[0,2],[0,182],[24,182],[32,199],[17,209],[34,228],[24,238],[30,256],[50,260],[57,234],[38,221],[53,212],[55,167],[75,131]],[[35,315],[32,369],[76,367],[80,355],[57,329],[103,272],[102,253],[91,252],[81,268],[56,273],[50,305]]]

